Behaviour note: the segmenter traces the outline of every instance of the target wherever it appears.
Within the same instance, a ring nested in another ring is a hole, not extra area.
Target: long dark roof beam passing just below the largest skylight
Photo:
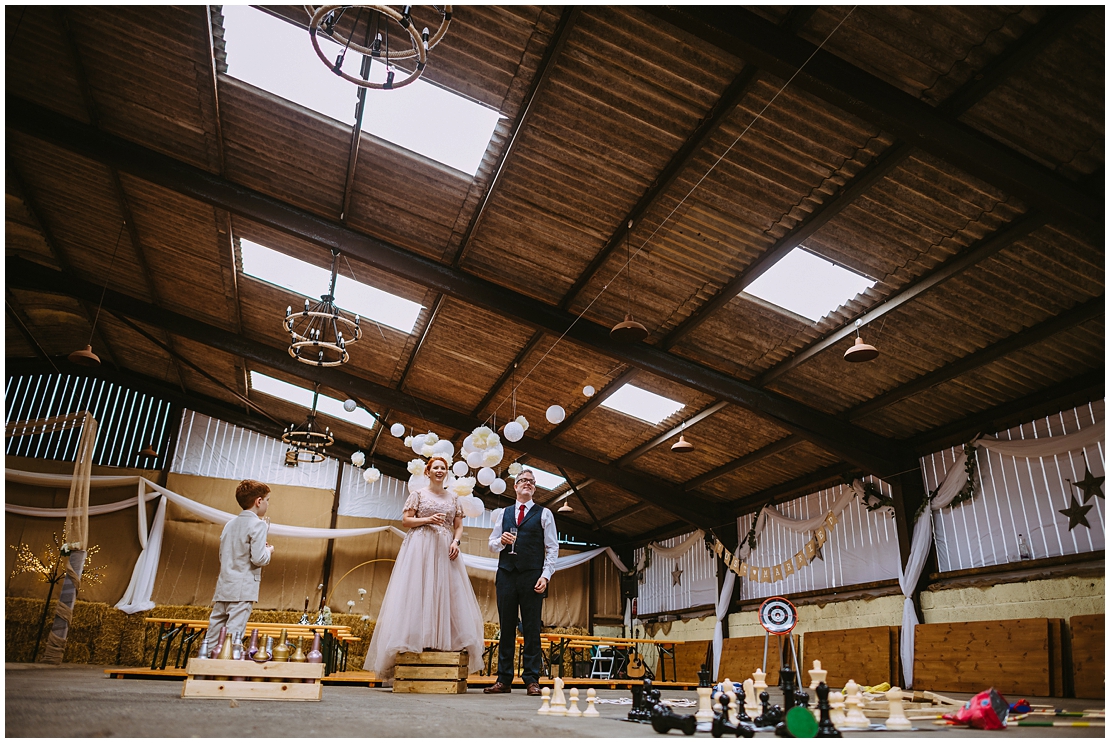
[[[666,353],[646,343],[617,347],[609,329],[576,319],[527,294],[443,265],[384,240],[232,183],[122,138],[99,131],[19,97],[6,96],[9,130],[53,142],[139,178],[219,205],[262,224],[303,238],[329,250],[342,249],[367,264],[516,322],[564,335],[654,374],[727,400],[771,419],[794,433],[876,474],[905,469],[909,456],[890,439],[840,421],[785,395],[768,392],[728,374]],[[571,469],[577,469],[573,464]]]

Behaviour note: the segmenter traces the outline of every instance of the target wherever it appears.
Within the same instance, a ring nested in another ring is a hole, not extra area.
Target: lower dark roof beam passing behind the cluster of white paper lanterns
[[[100,287],[83,279],[53,271],[19,258],[8,259],[7,268],[9,284],[17,288],[57,292],[71,297],[97,297],[101,291]],[[261,363],[311,382],[319,382],[351,396],[372,400],[394,410],[421,415],[433,423],[451,429],[466,431],[481,424],[481,421],[464,413],[426,400],[417,401],[411,394],[354,376],[341,369],[310,367],[300,363],[290,358],[284,349],[275,349],[244,335],[232,333],[113,290],[108,290],[104,293],[104,308],[225,353],[242,355],[248,361]],[[715,505],[693,500],[688,494],[684,494],[675,488],[660,485],[655,478],[619,470],[536,439],[525,438],[512,446],[553,464],[559,464],[588,476],[610,482],[636,498],[669,511],[675,516],[695,525],[712,520],[716,511]]]

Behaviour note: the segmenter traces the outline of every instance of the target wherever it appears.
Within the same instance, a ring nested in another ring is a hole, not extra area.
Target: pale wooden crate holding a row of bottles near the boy
[[[323,663],[255,663],[191,657],[185,672],[189,675],[185,676],[181,696],[190,699],[319,702],[324,689],[321,683],[324,677]],[[220,676],[245,676],[248,681],[223,681],[218,679]]]

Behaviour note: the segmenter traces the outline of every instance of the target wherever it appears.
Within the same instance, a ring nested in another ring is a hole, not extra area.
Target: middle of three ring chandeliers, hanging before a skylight
[[[293,312],[292,305],[285,308],[285,330],[292,339],[289,354],[301,363],[312,367],[345,364],[351,359],[347,347],[362,338],[361,318],[354,315],[352,320],[335,307],[339,257],[339,251],[333,250],[331,285],[319,302],[312,304],[311,300],[304,300],[304,310],[301,312]]]

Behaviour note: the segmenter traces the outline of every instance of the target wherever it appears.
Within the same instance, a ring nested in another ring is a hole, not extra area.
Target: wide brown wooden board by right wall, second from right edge
[[[914,685],[971,693],[993,686],[1002,694],[1060,696],[1058,632],[1048,619],[919,624]]]

